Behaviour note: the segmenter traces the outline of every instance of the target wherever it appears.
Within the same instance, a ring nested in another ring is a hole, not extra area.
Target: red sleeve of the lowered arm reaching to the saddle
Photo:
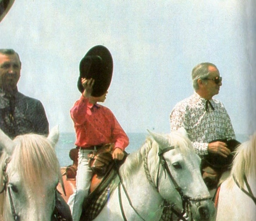
[[[112,138],[114,140],[114,148],[124,149],[129,145],[129,138],[124,132],[123,128],[120,126],[119,122],[113,115],[113,127],[112,127]]]

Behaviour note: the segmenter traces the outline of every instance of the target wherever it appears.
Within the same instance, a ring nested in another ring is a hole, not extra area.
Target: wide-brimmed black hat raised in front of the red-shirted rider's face
[[[80,61],[79,70],[77,87],[81,93],[84,91],[81,78],[93,78],[95,81],[91,95],[100,97],[105,94],[110,86],[113,73],[113,59],[110,51],[102,45],[94,46]]]

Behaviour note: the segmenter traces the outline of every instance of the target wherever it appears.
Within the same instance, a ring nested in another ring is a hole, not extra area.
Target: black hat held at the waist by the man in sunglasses
[[[202,163],[206,162],[206,164],[212,166],[214,169],[225,169],[231,166],[231,163],[234,158],[234,150],[238,145],[241,143],[235,139],[227,140],[227,139],[217,139],[217,140],[212,140],[209,143],[215,142],[215,141],[221,141],[227,144],[227,148],[230,149],[231,154],[228,155],[226,158],[219,154],[214,154],[214,153],[208,153],[207,155],[204,155],[202,159]]]

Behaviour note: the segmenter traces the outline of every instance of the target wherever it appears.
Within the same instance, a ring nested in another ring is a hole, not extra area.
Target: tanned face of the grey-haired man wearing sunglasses
[[[219,83],[215,83],[213,79],[216,77],[219,77],[219,71],[213,66],[209,66],[208,70],[210,71],[210,74],[207,77],[207,85],[206,85],[206,91],[207,94],[210,96],[214,96],[219,93],[220,86],[222,85],[221,81]]]

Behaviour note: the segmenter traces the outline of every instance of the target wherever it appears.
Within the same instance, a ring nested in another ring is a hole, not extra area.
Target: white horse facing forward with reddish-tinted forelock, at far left
[[[0,130],[0,220],[49,221],[61,179],[54,146],[58,129],[48,138],[36,134],[11,140]]]

